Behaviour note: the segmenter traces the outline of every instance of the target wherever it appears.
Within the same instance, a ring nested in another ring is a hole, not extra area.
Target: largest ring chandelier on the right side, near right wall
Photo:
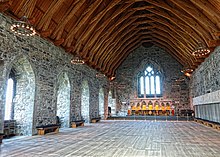
[[[202,42],[198,43],[198,47],[193,50],[192,55],[196,58],[201,58],[210,53],[210,49],[208,49]]]

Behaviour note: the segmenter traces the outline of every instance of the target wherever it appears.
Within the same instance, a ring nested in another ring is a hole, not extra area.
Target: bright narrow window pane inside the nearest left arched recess
[[[14,93],[14,81],[12,78],[8,79],[5,101],[5,117],[4,120],[12,119],[12,99]]]

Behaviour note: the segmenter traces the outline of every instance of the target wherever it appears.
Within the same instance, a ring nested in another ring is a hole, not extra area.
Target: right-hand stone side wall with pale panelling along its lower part
[[[220,122],[220,47],[195,70],[190,85],[195,116]]]

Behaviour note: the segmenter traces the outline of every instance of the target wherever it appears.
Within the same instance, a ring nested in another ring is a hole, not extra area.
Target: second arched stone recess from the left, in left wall
[[[58,77],[57,91],[57,116],[61,121],[61,127],[70,125],[70,81],[66,73]]]

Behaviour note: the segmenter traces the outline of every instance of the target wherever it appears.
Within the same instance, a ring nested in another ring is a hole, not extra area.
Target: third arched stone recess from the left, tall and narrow
[[[89,113],[89,85],[88,81],[82,82],[82,96],[81,96],[81,115],[85,119],[86,123],[90,122]]]

